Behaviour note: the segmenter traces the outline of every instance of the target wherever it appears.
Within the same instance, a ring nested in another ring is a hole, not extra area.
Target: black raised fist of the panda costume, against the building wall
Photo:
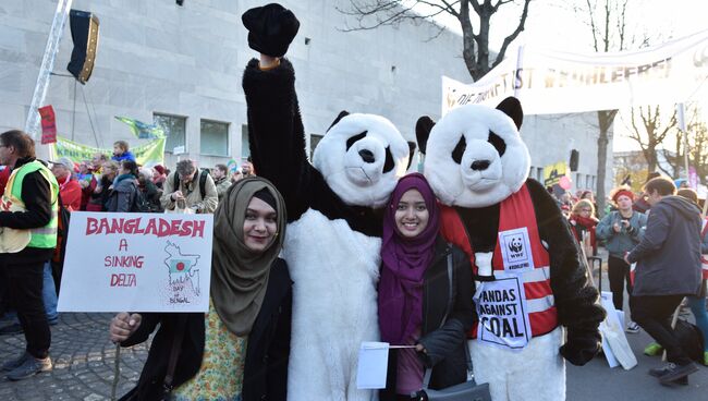
[[[248,29],[248,46],[270,57],[283,57],[300,28],[295,14],[277,3],[251,9],[241,21]]]

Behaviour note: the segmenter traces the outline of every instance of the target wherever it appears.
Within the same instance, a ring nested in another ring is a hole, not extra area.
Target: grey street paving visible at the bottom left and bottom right
[[[607,284],[603,284],[607,289]],[[0,379],[0,400],[108,400],[110,399],[115,348],[108,340],[110,314],[62,314],[52,327],[51,356],[54,369],[34,378],[10,382]],[[667,388],[647,375],[661,365],[659,357],[642,354],[649,337],[640,331],[627,335],[639,365],[632,370],[609,368],[599,356],[584,367],[567,366],[567,400],[682,400],[708,399],[708,368],[689,378],[689,386]],[[0,337],[0,362],[19,354],[24,338]],[[147,354],[145,344],[121,350],[121,376],[118,393],[127,391],[137,380]]]

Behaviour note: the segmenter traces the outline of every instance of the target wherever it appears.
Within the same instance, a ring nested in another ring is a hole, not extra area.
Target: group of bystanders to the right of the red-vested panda
[[[708,365],[708,270],[700,259],[701,254],[708,254],[708,235],[706,221],[700,221],[703,204],[697,193],[685,182],[678,189],[670,179],[650,174],[639,193],[628,186],[613,189],[602,219],[597,218],[591,192],[576,195],[557,197],[557,202],[566,211],[571,230],[587,255],[597,255],[598,243],[606,248],[614,308],[623,311],[625,291],[630,295],[625,331],[635,333],[644,328],[656,340],[645,349],[647,355],[666,350],[671,370],[696,372],[668,323],[685,297],[703,335],[699,362]],[[636,269],[636,277],[631,267],[635,263],[644,265]],[[660,377],[667,372],[662,367],[650,374]],[[687,384],[686,377],[679,381]]]

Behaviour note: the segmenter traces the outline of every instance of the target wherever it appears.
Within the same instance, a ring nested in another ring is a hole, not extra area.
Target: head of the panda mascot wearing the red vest
[[[509,97],[497,109],[461,106],[437,124],[428,117],[418,120],[424,174],[443,204],[485,207],[521,189],[530,168],[518,135],[523,116],[518,100]]]

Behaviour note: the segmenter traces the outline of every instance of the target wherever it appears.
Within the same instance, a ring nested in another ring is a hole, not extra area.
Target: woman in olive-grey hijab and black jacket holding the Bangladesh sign
[[[121,313],[111,321],[122,347],[160,324],[138,385],[122,400],[285,400],[292,281],[278,258],[283,199],[269,181],[247,178],[229,189],[213,219],[209,312]]]

